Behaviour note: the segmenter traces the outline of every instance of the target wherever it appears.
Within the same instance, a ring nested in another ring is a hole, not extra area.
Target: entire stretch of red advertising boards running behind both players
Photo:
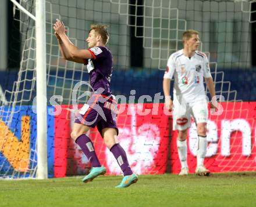
[[[221,114],[209,114],[205,166],[211,172],[255,171],[256,103],[221,105]],[[55,116],[55,177],[82,175],[90,169],[87,158],[70,139],[74,114],[64,108],[67,106],[62,106],[61,114]],[[165,115],[163,104],[120,104],[119,108],[124,110],[117,119],[118,138],[134,172],[138,175],[179,173],[177,132],[171,130],[172,117]],[[97,129],[90,130],[87,135],[94,143],[99,161],[108,169],[108,175],[120,175],[120,168]],[[194,173],[197,151],[194,123],[187,138],[187,162],[190,172]]]

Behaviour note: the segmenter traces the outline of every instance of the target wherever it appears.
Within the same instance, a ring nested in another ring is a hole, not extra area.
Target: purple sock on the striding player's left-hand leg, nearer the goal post
[[[93,143],[91,142],[89,137],[87,137],[86,135],[80,135],[76,139],[76,143],[81,147],[81,150],[84,152],[94,168],[101,166],[98,157],[94,151]]]

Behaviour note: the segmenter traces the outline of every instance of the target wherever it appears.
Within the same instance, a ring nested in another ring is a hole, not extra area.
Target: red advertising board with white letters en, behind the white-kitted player
[[[255,119],[256,103],[221,103],[221,115],[209,114],[207,125],[207,155],[205,167],[211,172],[244,172],[256,170]],[[187,137],[187,162],[195,172],[197,133],[193,123]],[[177,132],[172,132],[172,173],[179,173],[180,162],[176,147]]]

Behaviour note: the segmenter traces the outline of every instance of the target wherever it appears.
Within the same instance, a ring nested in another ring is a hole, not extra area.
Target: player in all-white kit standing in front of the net
[[[173,129],[178,130],[177,150],[182,169],[179,175],[188,175],[187,166],[187,130],[191,126],[193,116],[197,126],[197,175],[209,175],[204,166],[207,150],[208,108],[205,96],[204,79],[211,97],[215,97],[214,81],[212,80],[207,56],[198,51],[199,33],[187,30],[183,33],[183,49],[173,53],[166,66],[163,76],[163,93],[165,107],[173,110]],[[170,97],[170,79],[174,77],[173,100]],[[216,106],[216,105],[215,105]],[[211,104],[211,108],[215,108]]]

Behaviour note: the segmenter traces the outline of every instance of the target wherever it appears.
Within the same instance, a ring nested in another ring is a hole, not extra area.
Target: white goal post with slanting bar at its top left
[[[47,179],[47,71],[45,0],[35,1],[35,16],[15,0],[17,8],[35,21],[36,90],[37,90],[37,173],[38,179]]]

